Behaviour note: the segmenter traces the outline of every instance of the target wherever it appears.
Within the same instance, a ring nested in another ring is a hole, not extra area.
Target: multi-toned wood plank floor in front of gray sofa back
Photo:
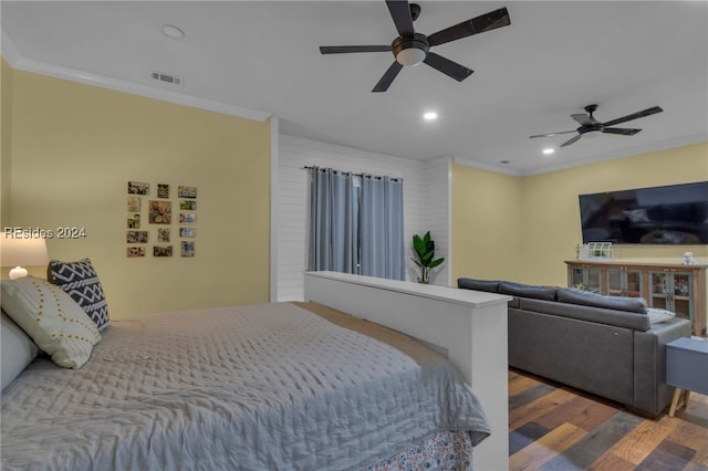
[[[509,468],[708,471],[708,396],[646,419],[604,399],[509,371]]]

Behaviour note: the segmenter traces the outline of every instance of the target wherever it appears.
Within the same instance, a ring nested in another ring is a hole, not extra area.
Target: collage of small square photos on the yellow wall
[[[179,257],[195,257],[197,188],[178,186],[176,192],[168,184],[128,181],[127,258],[176,257],[177,251]]]

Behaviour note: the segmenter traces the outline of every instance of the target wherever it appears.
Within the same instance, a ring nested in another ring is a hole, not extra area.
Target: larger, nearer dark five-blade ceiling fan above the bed
[[[472,74],[473,71],[450,61],[435,52],[430,52],[430,48],[445,44],[446,42],[457,41],[472,34],[483,33],[497,28],[511,24],[509,13],[506,8],[494,10],[490,13],[471,20],[462,21],[450,28],[433,33],[429,36],[415,32],[413,22],[420,14],[420,6],[417,3],[408,3],[400,0],[386,0],[386,6],[394,20],[398,36],[391,45],[323,45],[320,46],[322,54],[345,54],[351,52],[393,52],[396,61],[388,67],[386,73],[378,81],[372,92],[385,92],[391,83],[396,78],[398,72],[404,65],[413,66],[425,62],[433,69],[455,78],[458,82],[464,81]]]

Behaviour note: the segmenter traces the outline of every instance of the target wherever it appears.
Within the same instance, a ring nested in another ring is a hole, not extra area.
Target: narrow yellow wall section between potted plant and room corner
[[[522,234],[521,179],[452,167],[454,284],[460,276],[516,279]]]

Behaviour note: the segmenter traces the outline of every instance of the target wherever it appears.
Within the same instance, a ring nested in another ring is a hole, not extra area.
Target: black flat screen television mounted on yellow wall
[[[579,199],[583,243],[708,244],[708,181]]]

